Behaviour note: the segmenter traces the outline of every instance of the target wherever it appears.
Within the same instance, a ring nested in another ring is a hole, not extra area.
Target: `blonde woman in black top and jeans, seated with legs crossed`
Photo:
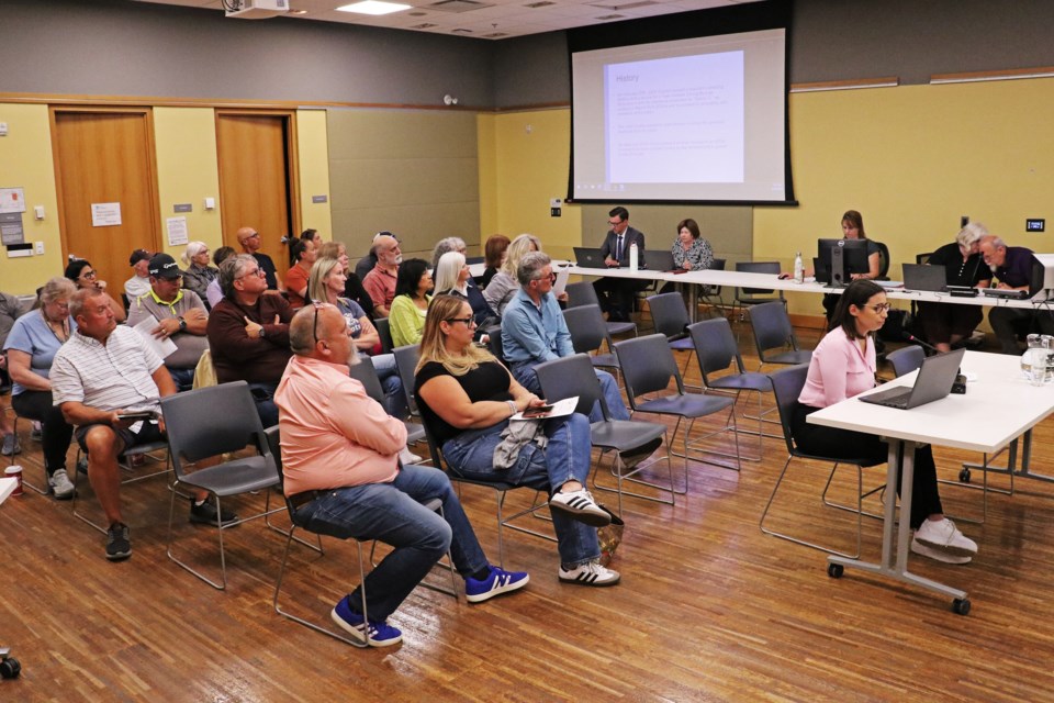
[[[425,322],[414,393],[450,471],[546,491],[560,553],[558,578],[581,585],[618,583],[618,572],[599,563],[596,538],[596,527],[609,524],[610,514],[585,488],[593,448],[590,421],[579,413],[541,421],[543,445],[520,437],[518,446],[505,451],[508,466],[496,468],[495,448],[512,439],[504,436],[508,419],[545,403],[473,344],[474,332],[467,301],[436,297]]]

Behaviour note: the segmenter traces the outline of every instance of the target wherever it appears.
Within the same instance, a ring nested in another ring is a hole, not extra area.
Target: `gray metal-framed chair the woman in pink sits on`
[[[861,535],[862,535],[862,520],[864,515],[870,517],[882,517],[877,514],[865,513],[863,510],[863,500],[871,495],[882,491],[885,488],[885,482],[876,489],[867,491],[866,493],[863,490],[863,468],[868,466],[868,460],[862,459],[859,457],[825,457],[808,454],[803,451],[797,447],[797,444],[794,440],[794,434],[790,428],[792,417],[794,413],[795,403],[798,400],[798,395],[801,394],[801,388],[805,387],[805,378],[809,372],[809,367],[807,364],[800,366],[792,366],[789,368],[781,369],[771,376],[772,378],[772,390],[776,397],[776,406],[780,411],[780,422],[783,427],[783,438],[787,445],[787,460],[783,465],[783,470],[780,472],[780,478],[776,479],[776,484],[772,489],[772,495],[769,496],[769,502],[765,503],[765,510],[761,514],[761,520],[759,521],[759,527],[761,532],[766,535],[772,535],[774,537],[780,537],[781,539],[786,539],[795,544],[804,545],[806,547],[811,547],[812,549],[819,549],[820,551],[826,551],[828,554],[836,554],[839,556],[848,557],[850,559],[855,559],[860,556],[860,545],[861,545]],[[783,483],[784,477],[787,475],[787,468],[790,466],[790,461],[794,459],[810,459],[815,461],[827,461],[834,462],[834,466],[831,468],[830,475],[827,477],[827,483],[823,486],[823,493],[821,500],[826,505],[832,507],[838,507],[840,510],[848,510],[850,512],[856,513],[856,550],[852,554],[846,551],[839,551],[838,549],[827,547],[825,545],[808,542],[800,537],[795,537],[787,533],[776,532],[765,527],[765,518],[769,516],[769,511],[772,509],[772,504],[776,499],[776,493],[780,490],[780,486]],[[856,467],[856,506],[846,507],[843,505],[838,505],[836,503],[828,502],[827,493],[831,487],[831,481],[834,478],[834,472],[838,470],[838,467],[843,464],[850,464]]]

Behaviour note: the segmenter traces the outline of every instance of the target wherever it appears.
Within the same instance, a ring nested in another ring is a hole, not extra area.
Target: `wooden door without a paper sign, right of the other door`
[[[281,239],[300,234],[293,121],[293,113],[216,113],[223,243],[240,250],[237,231],[256,227],[260,252],[282,278],[289,249]]]

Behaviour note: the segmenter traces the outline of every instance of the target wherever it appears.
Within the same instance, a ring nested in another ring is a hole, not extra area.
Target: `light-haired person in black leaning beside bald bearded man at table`
[[[958,231],[955,241],[930,255],[927,264],[943,266],[949,286],[988,288],[991,270],[985,265],[978,244],[988,230],[979,222],[971,222]],[[940,352],[950,352],[952,345],[968,337],[984,319],[979,305],[954,303],[919,303],[919,324],[922,336]]]

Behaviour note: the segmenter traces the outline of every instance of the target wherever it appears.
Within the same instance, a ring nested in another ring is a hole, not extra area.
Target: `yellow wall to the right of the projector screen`
[[[1009,243],[1054,252],[1054,79],[790,96],[798,208],[755,208],[754,256],[789,266],[840,236],[845,210],[900,264],[952,241],[969,215]],[[1025,217],[1047,217],[1025,234]],[[794,301],[803,312],[815,300]]]

